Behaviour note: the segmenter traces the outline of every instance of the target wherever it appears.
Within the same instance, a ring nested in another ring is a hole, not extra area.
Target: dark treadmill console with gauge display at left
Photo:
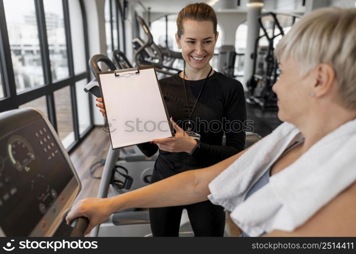
[[[0,236],[51,236],[80,190],[52,125],[37,110],[0,114]]]

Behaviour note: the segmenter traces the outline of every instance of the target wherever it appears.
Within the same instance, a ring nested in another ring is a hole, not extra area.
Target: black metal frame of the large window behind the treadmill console
[[[86,12],[84,8],[83,0],[78,0],[82,13],[83,29],[84,29],[84,47],[85,47],[85,65],[86,71],[78,75],[74,73],[74,63],[73,63],[73,48],[72,48],[72,38],[71,38],[71,27],[70,27],[70,15],[69,15],[69,0],[61,0],[63,7],[63,19],[64,19],[64,30],[66,34],[67,43],[67,56],[68,56],[68,69],[69,77],[52,82],[51,76],[51,66],[49,59],[48,41],[47,41],[47,30],[46,30],[46,20],[45,12],[42,0],[33,0],[36,10],[37,27],[39,32],[39,41],[41,48],[41,59],[42,59],[42,69],[44,74],[44,84],[38,87],[33,87],[26,89],[21,92],[16,92],[16,84],[14,77],[14,69],[12,66],[11,58],[11,48],[8,37],[8,29],[5,17],[5,8],[3,0],[0,0],[0,60],[2,62],[2,80],[4,86],[5,97],[0,98],[0,108],[2,111],[7,111],[11,109],[17,109],[20,105],[38,99],[42,96],[46,97],[47,113],[53,128],[57,131],[57,119],[56,111],[54,105],[54,91],[59,90],[63,87],[69,86],[71,90],[71,107],[73,115],[73,129],[75,141],[67,148],[70,152],[72,151],[83,138],[93,129],[93,110],[92,110],[92,98],[88,94],[89,98],[89,115],[90,115],[90,126],[82,133],[79,133],[79,120],[78,120],[78,107],[77,107],[77,97],[76,97],[76,82],[86,79],[87,82],[90,81],[90,70],[86,64],[89,60],[89,45],[88,45],[88,31],[87,31],[87,20]]]

